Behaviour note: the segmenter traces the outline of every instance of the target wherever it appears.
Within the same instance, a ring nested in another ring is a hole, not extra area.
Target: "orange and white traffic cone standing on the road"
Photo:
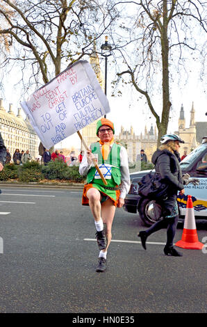
[[[191,248],[194,250],[201,250],[204,247],[204,244],[199,242],[198,239],[191,196],[188,196],[187,200],[182,239],[176,242],[175,245],[180,248]]]

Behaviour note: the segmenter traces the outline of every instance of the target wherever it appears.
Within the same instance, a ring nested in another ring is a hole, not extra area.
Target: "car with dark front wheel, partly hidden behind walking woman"
[[[199,179],[199,185],[188,184],[185,186],[185,195],[178,194],[179,214],[185,216],[188,195],[192,196],[195,218],[207,219],[207,136],[202,139],[201,145],[188,154],[180,162],[182,173],[188,173],[190,177]],[[138,214],[145,225],[149,226],[156,222],[156,204],[154,200],[141,198],[138,195],[138,182],[151,170],[142,170],[131,173],[131,188],[124,201],[124,210]]]

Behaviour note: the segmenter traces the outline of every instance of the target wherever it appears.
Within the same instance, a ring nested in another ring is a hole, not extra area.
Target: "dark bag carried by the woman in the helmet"
[[[167,199],[169,185],[162,180],[160,174],[150,172],[149,174],[143,176],[142,180],[140,180],[138,184],[138,193],[140,196],[151,200]]]

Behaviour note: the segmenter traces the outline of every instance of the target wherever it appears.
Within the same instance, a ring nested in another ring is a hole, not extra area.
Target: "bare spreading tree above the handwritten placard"
[[[94,40],[117,17],[115,8],[106,9],[111,1],[2,0],[0,67],[22,67],[24,92],[47,83],[92,52]]]

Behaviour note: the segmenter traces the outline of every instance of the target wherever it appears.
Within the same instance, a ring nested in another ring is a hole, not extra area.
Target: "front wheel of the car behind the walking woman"
[[[138,212],[144,225],[151,226],[160,220],[160,216],[157,217],[155,214],[155,206],[156,202],[154,200],[143,199],[142,202],[140,202]]]

